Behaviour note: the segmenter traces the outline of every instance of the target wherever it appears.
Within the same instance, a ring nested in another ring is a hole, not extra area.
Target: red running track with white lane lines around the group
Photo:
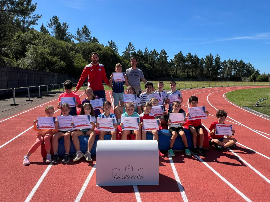
[[[157,186],[99,187],[95,184],[95,158],[90,163],[82,159],[65,165],[59,161],[47,165],[40,149],[31,155],[30,165],[22,165],[22,157],[35,142],[32,121],[45,116],[44,107],[56,106],[57,100],[2,119],[0,201],[268,201],[270,120],[231,104],[224,95],[236,89],[257,87],[260,86],[182,91],[185,111],[191,95],[196,95],[198,105],[209,111],[208,118],[202,120],[206,127],[216,121],[216,109],[226,110],[226,123],[233,125],[238,146],[222,152],[210,146],[205,157],[186,157],[179,152],[169,159],[165,154],[160,157]],[[110,101],[111,92],[106,93]],[[83,91],[79,95],[85,98]],[[59,111],[55,113],[58,115]]]

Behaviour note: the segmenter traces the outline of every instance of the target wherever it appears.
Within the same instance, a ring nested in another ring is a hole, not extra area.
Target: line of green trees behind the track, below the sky
[[[80,75],[84,66],[91,62],[91,52],[96,51],[107,76],[114,71],[116,63],[121,63],[124,70],[129,68],[130,57],[135,56],[137,67],[142,69],[146,78],[195,79],[211,75],[213,79],[259,79],[259,70],[250,62],[236,59],[221,61],[219,54],[213,56],[210,53],[199,58],[196,54],[184,55],[180,51],[169,60],[164,49],[158,52],[155,49],[149,51],[146,47],[144,51],[136,51],[129,42],[120,55],[113,40],[109,40],[108,45],[100,44],[86,25],[73,35],[68,31],[68,24],[61,22],[56,15],[46,25],[41,24],[40,30],[35,30],[32,26],[37,25],[42,17],[33,14],[36,8],[37,3],[32,3],[32,0],[0,2],[0,65]],[[268,80],[268,75],[263,80]]]

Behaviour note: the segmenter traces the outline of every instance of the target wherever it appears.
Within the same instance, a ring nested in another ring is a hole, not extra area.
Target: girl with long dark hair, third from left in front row
[[[92,127],[86,128],[86,129],[74,130],[71,133],[72,141],[73,141],[74,147],[76,149],[76,154],[74,154],[73,162],[80,160],[83,156],[85,157],[85,159],[87,161],[92,161],[90,151],[94,145],[94,142],[96,139],[96,134],[97,134],[96,131],[94,130],[96,117],[95,117],[95,113],[94,113],[92,105],[86,102],[82,105],[82,109],[81,109],[81,112],[79,115],[88,115],[88,114],[90,114],[90,116],[91,116]],[[83,154],[81,149],[80,149],[80,141],[78,138],[78,136],[82,136],[82,135],[90,136],[88,139],[87,151],[85,152],[85,154]]]

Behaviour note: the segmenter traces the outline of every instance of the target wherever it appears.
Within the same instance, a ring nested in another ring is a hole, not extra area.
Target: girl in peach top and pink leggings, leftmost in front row
[[[54,107],[52,105],[45,107],[45,113],[47,117],[52,117],[52,115],[54,114]],[[33,129],[35,131],[38,131],[36,142],[34,143],[34,145],[32,145],[27,154],[23,157],[23,165],[30,164],[29,156],[33,154],[43,142],[45,142],[45,149],[47,152],[46,163],[52,162],[51,139],[52,135],[58,130],[58,122],[55,121],[55,129],[38,129],[37,123],[38,120],[35,120],[33,123]]]

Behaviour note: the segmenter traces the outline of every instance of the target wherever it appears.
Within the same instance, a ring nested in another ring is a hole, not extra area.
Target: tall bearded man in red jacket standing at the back
[[[83,69],[82,75],[74,92],[77,92],[78,89],[80,89],[83,82],[85,81],[85,78],[88,77],[88,87],[91,87],[93,89],[94,95],[97,95],[99,98],[104,98],[104,100],[106,101],[106,95],[102,84],[102,79],[107,85],[109,85],[109,81],[106,77],[104,66],[98,63],[98,53],[92,52],[91,55],[92,62],[86,65]]]

